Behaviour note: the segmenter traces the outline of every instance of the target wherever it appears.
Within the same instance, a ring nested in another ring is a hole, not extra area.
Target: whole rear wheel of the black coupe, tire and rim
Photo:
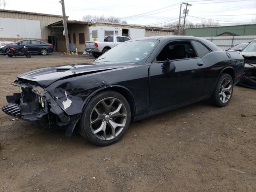
[[[233,94],[233,79],[229,74],[221,74],[216,84],[212,101],[215,106],[225,107],[228,105]]]

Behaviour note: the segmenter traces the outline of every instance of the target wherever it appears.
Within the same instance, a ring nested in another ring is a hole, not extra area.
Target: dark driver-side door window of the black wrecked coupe
[[[156,57],[156,61],[166,59],[177,60],[197,57],[192,45],[188,41],[172,42],[167,44]]]

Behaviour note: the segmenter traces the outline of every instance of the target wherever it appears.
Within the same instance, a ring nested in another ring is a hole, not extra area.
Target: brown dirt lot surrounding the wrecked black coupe
[[[87,61],[0,55],[0,106],[17,74]],[[236,86],[225,108],[199,102],[133,122],[107,147],[12,119],[0,112],[0,192],[256,191],[256,90]]]

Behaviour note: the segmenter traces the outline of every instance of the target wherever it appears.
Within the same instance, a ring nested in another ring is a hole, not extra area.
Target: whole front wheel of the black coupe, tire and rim
[[[130,106],[124,96],[104,91],[87,104],[80,119],[79,132],[93,144],[107,146],[124,136],[130,120]]]

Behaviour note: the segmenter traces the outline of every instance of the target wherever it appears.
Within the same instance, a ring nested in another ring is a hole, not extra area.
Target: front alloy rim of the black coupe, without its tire
[[[90,114],[90,129],[100,140],[116,138],[124,129],[127,110],[118,98],[108,97],[100,100]]]

